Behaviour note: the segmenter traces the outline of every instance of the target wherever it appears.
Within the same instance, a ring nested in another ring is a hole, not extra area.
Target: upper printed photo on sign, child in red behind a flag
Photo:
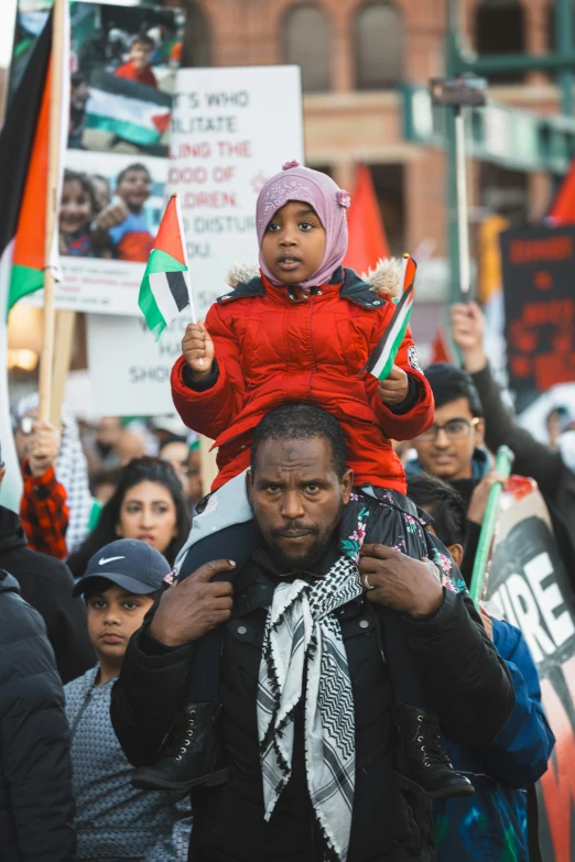
[[[21,2],[11,89],[47,17],[45,2]],[[70,3],[68,146],[166,155],[184,34],[182,10]]]

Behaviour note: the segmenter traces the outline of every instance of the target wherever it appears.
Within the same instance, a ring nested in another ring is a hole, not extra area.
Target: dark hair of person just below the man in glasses
[[[434,521],[434,528],[444,545],[465,547],[467,510],[463,497],[447,482],[428,473],[408,476],[408,495]]]

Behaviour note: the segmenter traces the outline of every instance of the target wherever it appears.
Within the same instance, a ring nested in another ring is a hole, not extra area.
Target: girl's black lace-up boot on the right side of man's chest
[[[394,714],[399,733],[395,774],[400,787],[427,799],[475,793],[470,781],[453,768],[433,712],[421,706],[395,703]]]

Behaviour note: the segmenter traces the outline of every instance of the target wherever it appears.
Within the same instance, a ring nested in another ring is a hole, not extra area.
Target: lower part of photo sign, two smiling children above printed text
[[[56,305],[138,315],[138,292],[165,206],[167,160],[68,150],[58,218]],[[26,302],[42,304],[42,292]]]

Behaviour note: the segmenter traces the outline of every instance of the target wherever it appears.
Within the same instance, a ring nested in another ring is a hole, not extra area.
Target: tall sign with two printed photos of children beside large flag
[[[21,0],[22,3],[22,0]],[[20,8],[15,83],[47,17]],[[57,308],[137,315],[161,220],[182,10],[70,3],[72,87]],[[43,304],[42,292],[26,302]]]

